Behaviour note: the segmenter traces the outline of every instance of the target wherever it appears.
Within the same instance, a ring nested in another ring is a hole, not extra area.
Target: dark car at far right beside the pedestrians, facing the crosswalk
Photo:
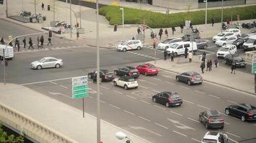
[[[237,67],[245,67],[246,63],[244,61],[244,59],[242,59],[241,56],[237,56],[234,54],[227,54],[226,56],[224,56],[224,62],[225,64],[235,64],[235,66]]]

